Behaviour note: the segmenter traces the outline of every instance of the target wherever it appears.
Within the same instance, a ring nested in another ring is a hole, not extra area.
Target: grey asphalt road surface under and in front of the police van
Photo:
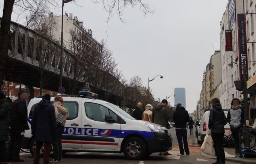
[[[178,142],[176,138],[175,128],[171,128],[169,132],[173,137],[173,149],[170,151],[171,156],[159,156],[158,153],[153,153],[142,161],[131,161],[125,159],[120,153],[87,153],[74,152],[67,153],[63,157],[60,164],[211,164],[215,160],[204,158],[200,155],[200,146],[194,136],[189,136],[188,143],[190,156],[177,156],[179,153]],[[21,159],[25,160],[25,164],[33,164],[33,157],[30,154],[21,153]],[[40,160],[42,163],[42,159]],[[226,162],[226,164],[235,164]]]

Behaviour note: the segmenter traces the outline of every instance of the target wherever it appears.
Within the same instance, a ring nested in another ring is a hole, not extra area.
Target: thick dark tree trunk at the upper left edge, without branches
[[[10,42],[10,25],[14,0],[4,0],[3,16],[0,28],[0,88],[4,79],[5,63]]]

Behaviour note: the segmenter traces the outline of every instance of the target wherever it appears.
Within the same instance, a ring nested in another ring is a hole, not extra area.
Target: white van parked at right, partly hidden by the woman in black
[[[222,110],[224,111],[224,114],[227,117],[227,113],[229,112],[229,110],[227,109],[222,109]],[[198,137],[197,137],[198,144],[201,144],[201,145],[203,144],[204,137],[206,136],[207,131],[209,129],[208,128],[209,116],[210,116],[210,110],[204,112],[203,117],[200,120],[199,128],[198,128]],[[231,134],[231,131],[230,131],[230,125],[228,122],[224,126],[224,129],[225,129],[225,135],[229,136]]]

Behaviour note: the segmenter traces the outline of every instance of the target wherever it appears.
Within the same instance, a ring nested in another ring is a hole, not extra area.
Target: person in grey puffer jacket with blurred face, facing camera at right
[[[244,124],[244,109],[242,109],[239,99],[234,98],[232,100],[232,108],[227,113],[227,121],[230,124],[230,129],[235,141],[235,156],[239,156],[239,128]]]

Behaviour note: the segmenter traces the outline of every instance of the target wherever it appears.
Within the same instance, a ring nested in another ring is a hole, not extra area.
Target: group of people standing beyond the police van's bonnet
[[[169,121],[171,119],[171,110],[168,106],[166,99],[163,99],[161,103],[153,108],[151,104],[147,104],[146,109],[143,112],[142,103],[138,102],[136,109],[133,111],[132,116],[137,120],[149,121],[155,124],[164,126],[166,129],[170,129]],[[189,156],[189,148],[187,141],[187,122],[189,122],[189,129],[192,135],[192,129],[194,121],[189,118],[188,111],[185,110],[182,104],[177,104],[176,110],[173,113],[173,122],[176,127],[176,136],[178,145],[180,148],[179,156]],[[172,155],[169,152],[160,152],[159,155]]]

